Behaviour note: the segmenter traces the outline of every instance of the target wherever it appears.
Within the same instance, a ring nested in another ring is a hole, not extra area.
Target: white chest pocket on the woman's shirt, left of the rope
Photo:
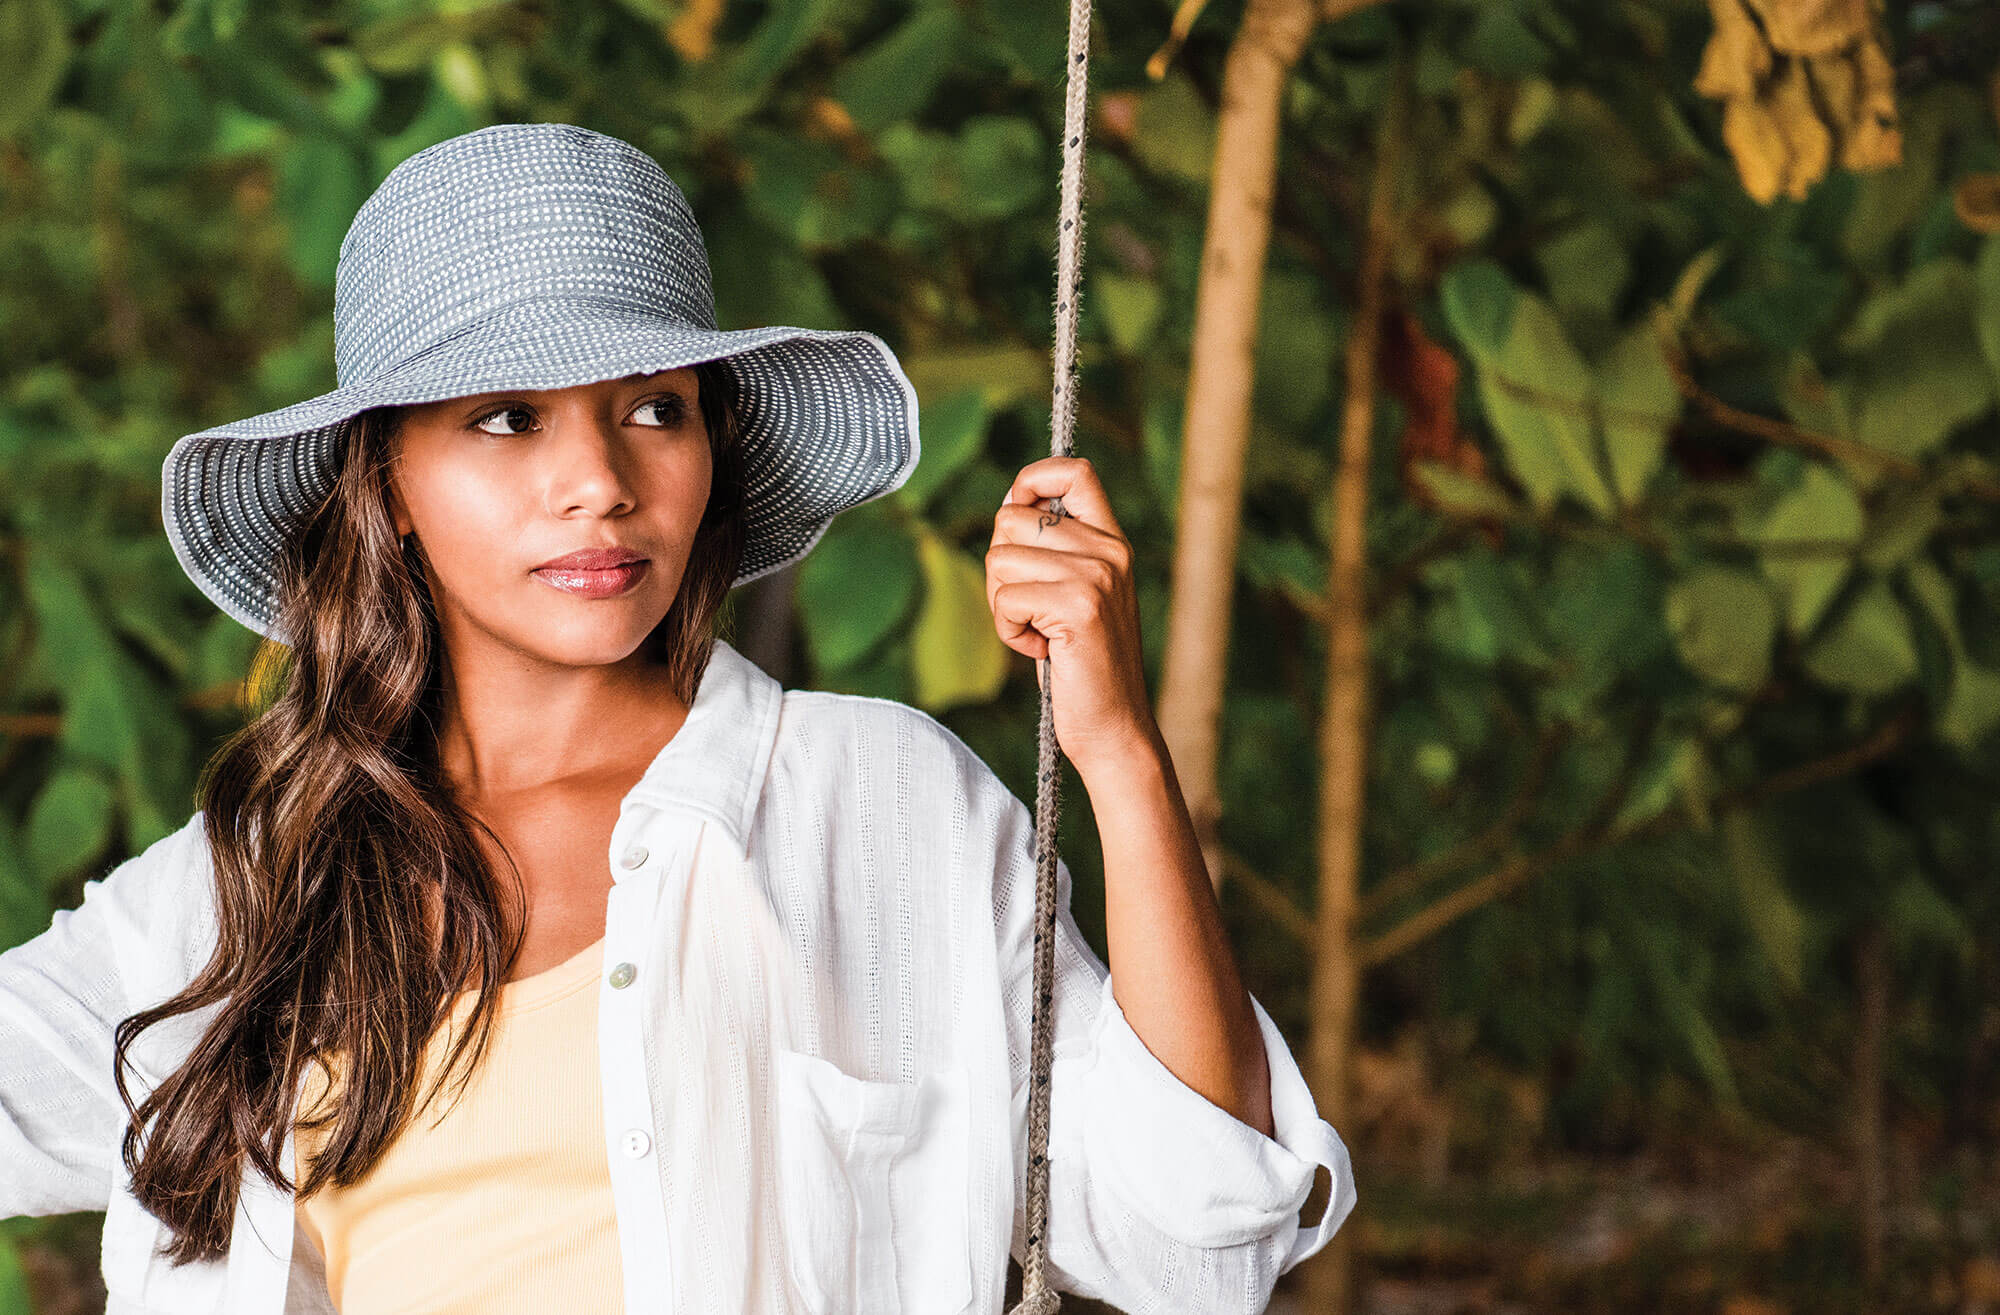
[[[776,1049],[786,1253],[812,1315],[952,1315],[972,1303],[964,1065],[868,1081]]]

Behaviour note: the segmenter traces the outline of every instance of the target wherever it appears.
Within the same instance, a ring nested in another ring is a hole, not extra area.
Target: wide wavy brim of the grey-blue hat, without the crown
[[[580,298],[478,320],[376,378],[188,434],[160,468],[160,518],[222,612],[276,630],[276,556],[326,500],[348,420],[502,390],[546,390],[728,358],[740,382],[748,584],[804,558],[848,508],[916,470],[916,388],[866,330],[710,330]]]

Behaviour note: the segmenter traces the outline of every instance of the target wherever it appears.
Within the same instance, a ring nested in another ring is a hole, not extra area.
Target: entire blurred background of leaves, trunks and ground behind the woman
[[[1278,1303],[2000,1309],[1996,8],[1172,22],[1098,4],[1078,454],[1140,550],[1156,693],[1198,588],[1176,546],[1224,526],[1226,659],[1184,658],[1216,733],[1176,765],[1360,1183]],[[1032,799],[1034,673],[980,558],[1048,454],[1064,28],[1006,0],[0,0],[0,945],[184,821],[250,709],[256,638],[160,530],[168,446],[332,388],[356,208],[504,120],[652,152],[726,328],[902,354],[914,480],[734,622]],[[1272,98],[1268,188],[1218,150],[1230,78]],[[1224,186],[1270,224],[1254,324],[1204,290],[1246,276],[1204,274],[1248,232]],[[1230,418],[1190,416],[1200,316],[1256,344],[1220,512],[1182,488]],[[0,1225],[0,1313],[102,1303],[96,1227]]]

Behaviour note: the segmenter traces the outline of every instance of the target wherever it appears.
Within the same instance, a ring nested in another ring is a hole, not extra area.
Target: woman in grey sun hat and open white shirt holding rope
[[[654,160],[502,124],[362,206],[336,366],[166,460],[178,560],[290,652],[200,811],[0,955],[0,1215],[106,1209],[112,1315],[998,1311],[1028,809],[714,636],[908,478],[894,354],[716,330]],[[1110,969],[1058,869],[1052,1279],[1262,1309],[1352,1175],[1236,975],[1090,464],[1022,470],[986,562],[1106,853]]]

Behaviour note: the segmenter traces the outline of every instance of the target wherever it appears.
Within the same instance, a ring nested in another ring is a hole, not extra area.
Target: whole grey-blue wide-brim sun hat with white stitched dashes
[[[916,468],[916,390],[878,336],[716,328],[700,226],[652,156],[574,124],[480,128],[398,164],[354,216],[334,274],[338,386],[174,444],[166,536],[222,612],[290,644],[278,554],[332,492],[354,416],[708,360],[740,394],[734,584],[798,562]]]

